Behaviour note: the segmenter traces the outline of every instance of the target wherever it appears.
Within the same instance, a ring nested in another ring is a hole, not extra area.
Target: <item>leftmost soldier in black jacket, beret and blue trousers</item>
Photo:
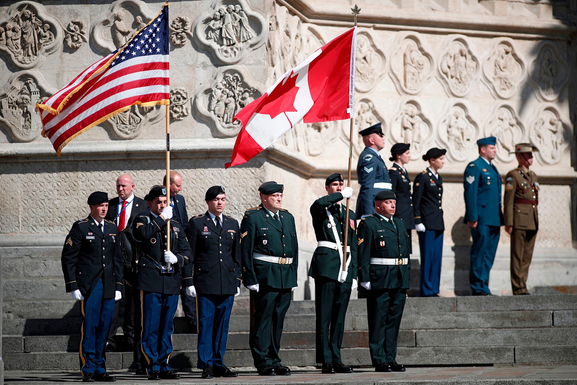
[[[108,194],[88,197],[90,215],[74,222],[62,249],[66,293],[80,302],[82,337],[80,371],[83,382],[113,382],[106,373],[104,346],[114,314],[114,301],[122,298],[122,254],[118,227],[105,220]]]

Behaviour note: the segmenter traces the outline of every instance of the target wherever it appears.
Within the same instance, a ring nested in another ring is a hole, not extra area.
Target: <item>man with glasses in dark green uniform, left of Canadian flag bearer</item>
[[[283,189],[273,182],[261,186],[262,207],[246,210],[241,223],[242,280],[254,303],[250,350],[261,376],[290,375],[280,364],[279,346],[297,288],[298,240],[294,217],[280,208]]]

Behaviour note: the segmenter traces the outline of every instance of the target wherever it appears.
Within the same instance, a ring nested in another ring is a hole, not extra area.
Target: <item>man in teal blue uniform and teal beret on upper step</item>
[[[479,157],[467,165],[463,176],[466,223],[473,245],[469,267],[471,294],[492,295],[489,272],[493,266],[500,227],[505,224],[501,209],[501,176],[492,164],[497,149],[494,136],[477,140]]]

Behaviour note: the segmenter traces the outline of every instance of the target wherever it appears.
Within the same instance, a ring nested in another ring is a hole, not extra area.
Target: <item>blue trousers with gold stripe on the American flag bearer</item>
[[[178,295],[140,291],[142,310],[142,352],[147,362],[147,375],[154,371],[173,370],[168,358],[173,353],[173,321],[177,312]]]

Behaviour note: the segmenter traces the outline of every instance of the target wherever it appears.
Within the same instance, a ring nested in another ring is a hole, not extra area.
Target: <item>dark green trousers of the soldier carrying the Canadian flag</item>
[[[344,317],[351,297],[350,283],[328,277],[314,279],[314,303],[317,313],[317,364],[341,362]]]

